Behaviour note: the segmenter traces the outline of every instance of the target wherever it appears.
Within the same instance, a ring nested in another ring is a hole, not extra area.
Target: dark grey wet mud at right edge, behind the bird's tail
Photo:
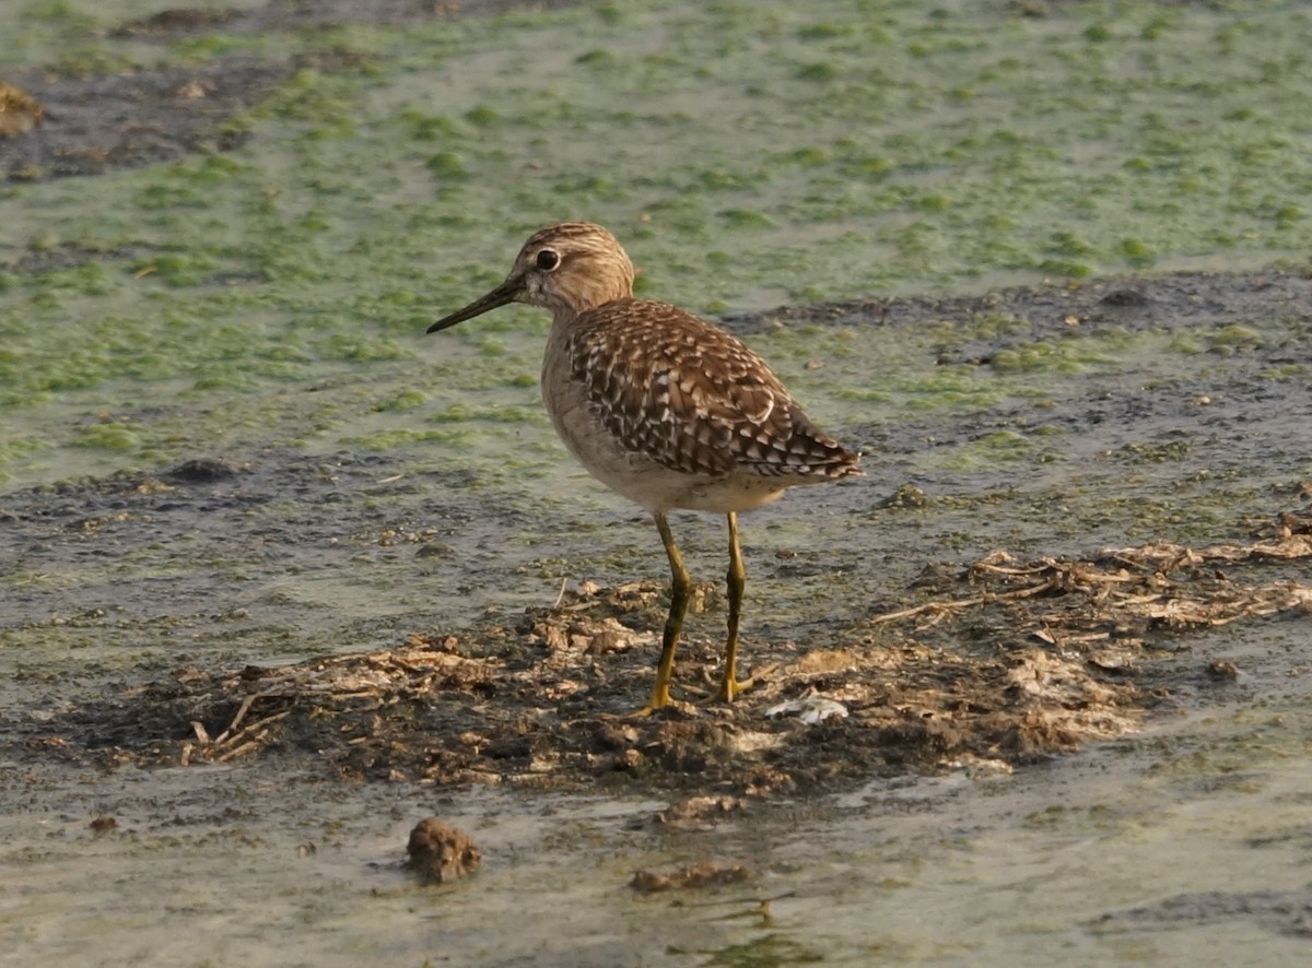
[[[1266,328],[1279,320],[1275,328]],[[1063,346],[1088,340],[1151,334],[1166,345],[1189,344],[1193,362],[1178,373],[1151,365],[1101,376],[1072,374],[1063,392],[1029,401],[1004,401],[945,422],[942,413],[908,413],[896,422],[858,428],[850,442],[866,455],[913,456],[998,437],[1060,435],[1061,455],[1085,462],[1075,475],[1089,483],[1119,481],[1119,500],[1162,498],[1160,475],[1149,464],[1176,466],[1179,484],[1190,475],[1252,477],[1256,463],[1274,474],[1302,474],[1312,426],[1312,275],[1262,272],[1245,275],[1189,273],[1155,279],[1099,279],[1022,286],[981,296],[863,299],[823,306],[781,307],[732,316],[733,332],[777,328],[869,327],[895,331],[945,324],[937,363],[981,376],[1023,374],[1035,352],[1060,357]],[[1051,379],[1034,365],[1035,383]],[[1035,453],[1033,485],[1051,479],[1071,487],[1067,460]],[[867,462],[869,463],[869,462]],[[1054,475],[1055,472],[1055,475]],[[1147,477],[1157,477],[1147,480]],[[1148,487],[1136,487],[1145,480]],[[1014,488],[1014,467],[1002,466],[980,488]],[[1115,540],[1111,534],[1099,539]],[[1207,539],[1206,535],[1199,535]]]

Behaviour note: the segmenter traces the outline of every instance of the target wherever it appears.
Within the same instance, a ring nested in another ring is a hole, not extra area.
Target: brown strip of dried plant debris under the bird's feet
[[[1161,669],[1191,631],[1312,614],[1312,585],[1288,567],[1308,557],[1312,527],[1290,518],[1248,544],[1155,543],[1080,561],[994,552],[918,581],[911,594],[924,601],[858,620],[840,648],[745,643],[758,668],[777,668],[732,706],[711,700],[722,644],[693,637],[676,685],[698,702],[646,719],[628,714],[651,685],[665,589],[581,585],[467,640],[412,635],[295,665],[185,669],[45,723],[28,749],[174,763],[294,756],[344,776],[436,784],[687,786],[715,796],[663,820],[705,822],[744,795],[962,763],[994,775],[1131,731],[1169,700]],[[1190,673],[1216,682],[1229,668]],[[846,716],[766,715],[817,698]]]

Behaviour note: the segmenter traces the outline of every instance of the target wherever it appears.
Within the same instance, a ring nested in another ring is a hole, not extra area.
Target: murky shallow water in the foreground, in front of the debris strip
[[[1221,702],[1014,775],[749,801],[691,830],[656,822],[651,796],[9,763],[35,809],[0,821],[0,961],[1302,964],[1309,736],[1305,699]],[[91,833],[98,812],[117,830]],[[398,870],[429,813],[482,846],[472,879]],[[753,879],[627,887],[703,859]]]

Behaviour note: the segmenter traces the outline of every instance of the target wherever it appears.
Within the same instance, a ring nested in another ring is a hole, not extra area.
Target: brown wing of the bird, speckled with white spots
[[[676,306],[618,299],[571,331],[573,379],[631,451],[707,477],[859,474],[858,458],[807,420],[765,361]]]

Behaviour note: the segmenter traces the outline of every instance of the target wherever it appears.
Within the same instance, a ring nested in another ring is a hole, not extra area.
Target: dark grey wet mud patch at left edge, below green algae
[[[224,627],[222,637],[235,643],[281,637],[276,630],[291,615],[308,640],[340,634],[335,610],[297,609],[272,588],[289,576],[341,576],[350,585],[353,575],[391,563],[446,588],[457,576],[492,584],[472,554],[438,554],[438,539],[504,543],[525,514],[478,491],[462,470],[415,474],[383,455],[265,453],[5,494],[0,523],[7,628],[83,626],[105,640],[146,641],[199,623]],[[235,601],[235,610],[215,605]],[[352,601],[336,597],[348,610]]]

